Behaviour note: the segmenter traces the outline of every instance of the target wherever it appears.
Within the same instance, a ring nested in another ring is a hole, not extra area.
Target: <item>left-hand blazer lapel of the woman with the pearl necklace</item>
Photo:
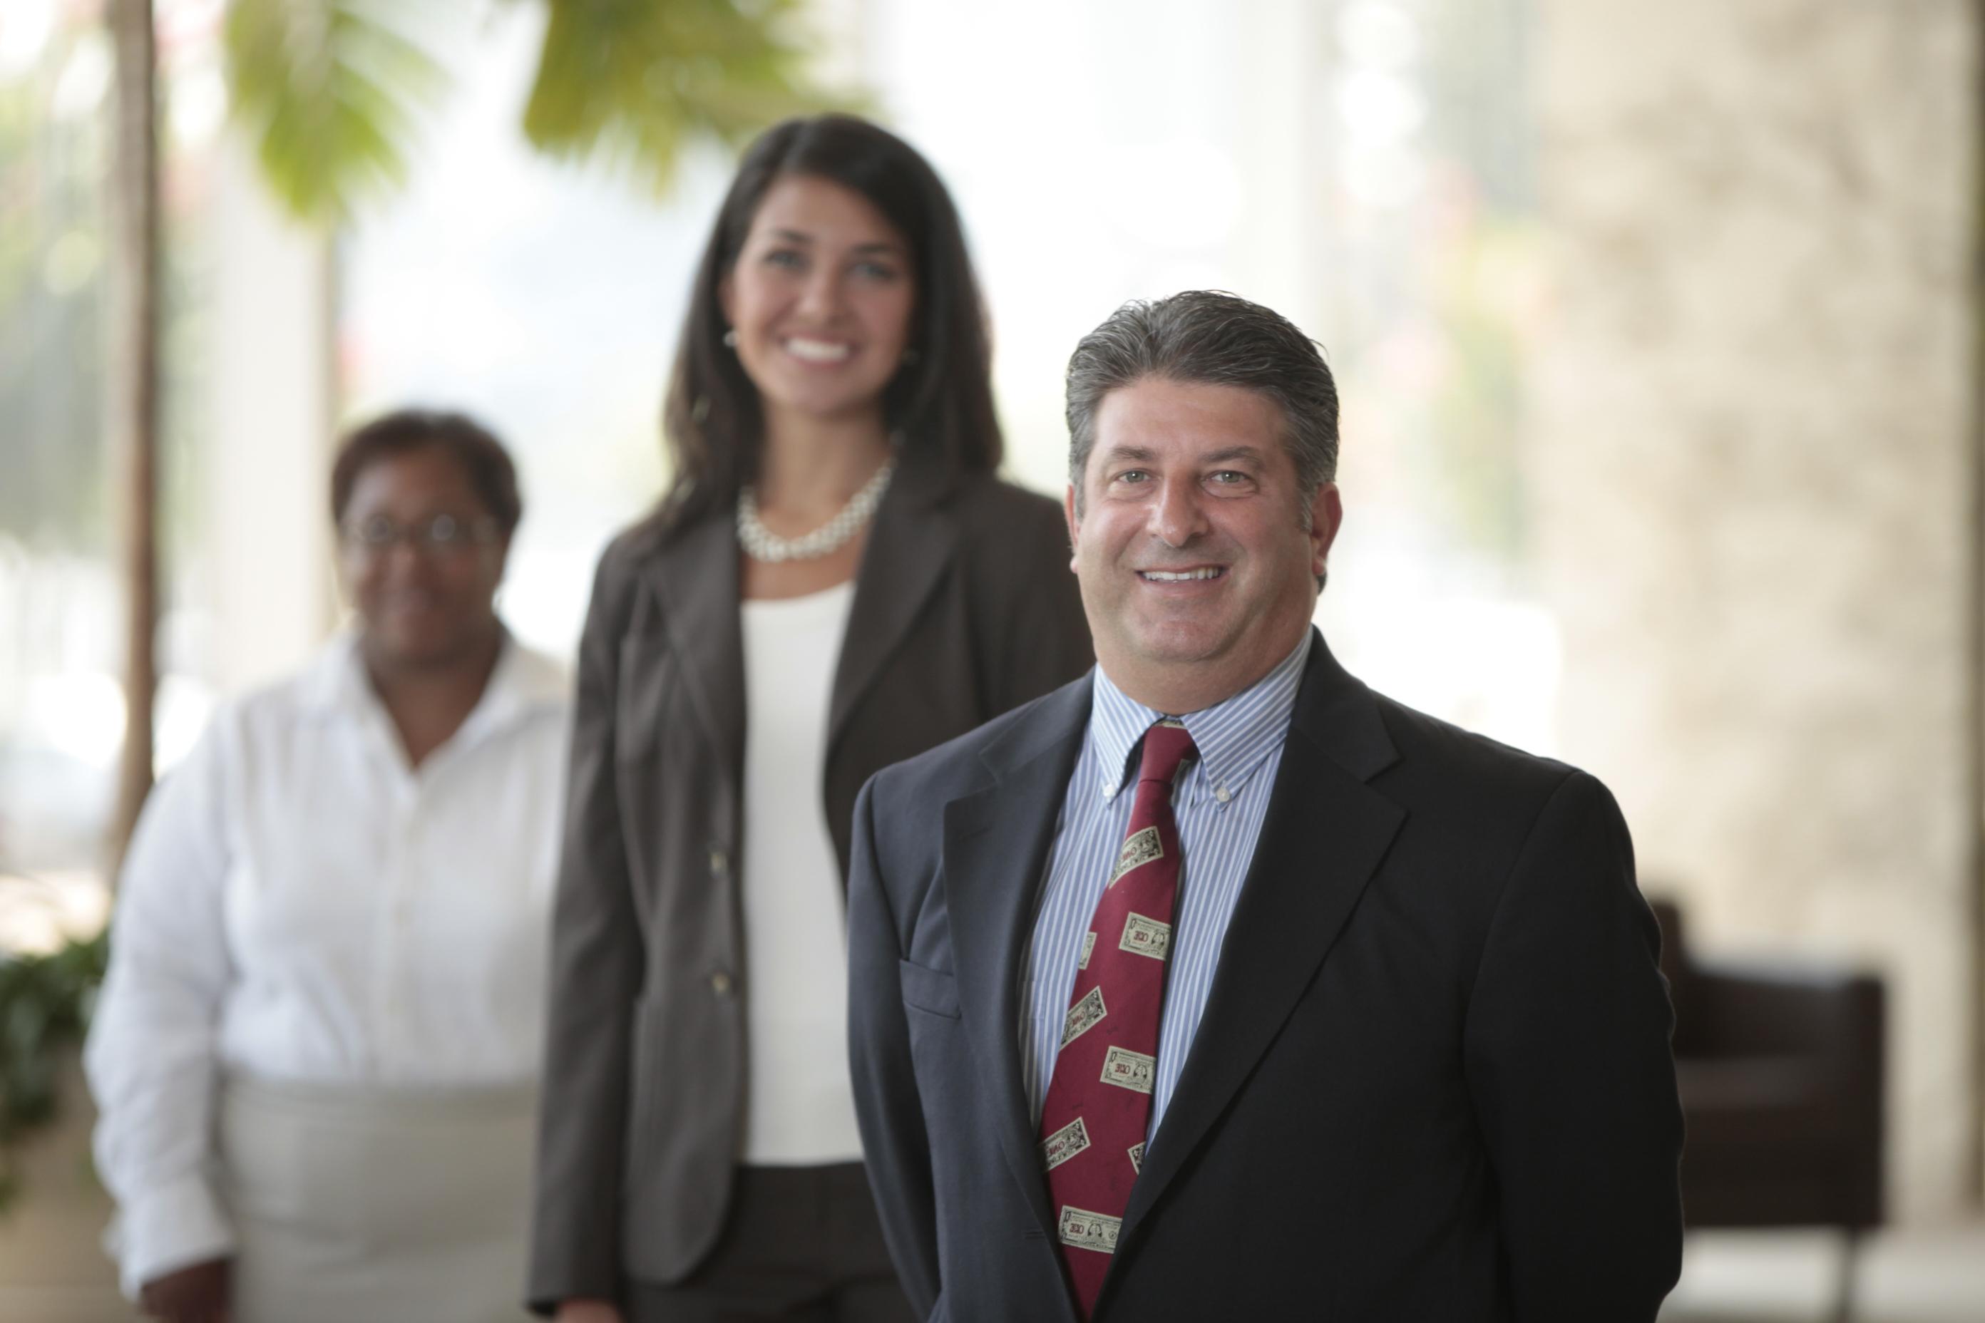
[[[703,716],[721,772],[744,774],[744,635],[738,623],[738,545],[719,516],[683,530],[647,559],[663,627]]]

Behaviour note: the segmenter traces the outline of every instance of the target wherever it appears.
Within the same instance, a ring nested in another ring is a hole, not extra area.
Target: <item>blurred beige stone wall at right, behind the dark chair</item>
[[[1969,1186],[1969,0],[1538,0],[1530,401],[1568,758],[1725,950],[1890,980],[1890,1192]]]

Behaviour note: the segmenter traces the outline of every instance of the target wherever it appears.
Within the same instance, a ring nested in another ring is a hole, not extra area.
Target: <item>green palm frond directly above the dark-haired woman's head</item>
[[[794,0],[546,0],[550,22],[524,137],[550,155],[601,153],[657,192],[683,147],[732,147],[786,115],[836,105],[804,75]]]

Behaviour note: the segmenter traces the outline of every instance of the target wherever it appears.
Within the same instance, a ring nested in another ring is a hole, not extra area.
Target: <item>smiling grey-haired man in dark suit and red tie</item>
[[[1681,1262],[1659,934],[1590,776],[1310,627],[1336,389],[1276,313],[1068,369],[1098,668],[856,807],[856,1099],[931,1319],[1652,1321]]]

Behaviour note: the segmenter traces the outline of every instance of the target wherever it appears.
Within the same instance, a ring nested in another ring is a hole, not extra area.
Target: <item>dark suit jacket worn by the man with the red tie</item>
[[[1076,1317],[1016,968],[1088,716],[1084,678],[856,807],[856,1101],[931,1319]],[[1604,785],[1370,692],[1318,639],[1266,813],[1096,1317],[1654,1319],[1681,1113]]]

